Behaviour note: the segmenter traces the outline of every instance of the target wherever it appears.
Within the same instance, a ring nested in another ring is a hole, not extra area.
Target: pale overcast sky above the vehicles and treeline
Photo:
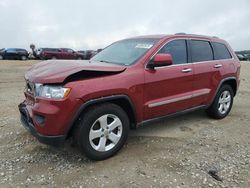
[[[0,48],[97,49],[127,37],[218,36],[250,49],[250,0],[0,0]]]

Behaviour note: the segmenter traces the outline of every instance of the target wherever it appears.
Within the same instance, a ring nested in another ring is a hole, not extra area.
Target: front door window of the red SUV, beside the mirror
[[[173,64],[187,63],[187,45],[185,40],[171,41],[163,46],[158,53],[171,54]]]

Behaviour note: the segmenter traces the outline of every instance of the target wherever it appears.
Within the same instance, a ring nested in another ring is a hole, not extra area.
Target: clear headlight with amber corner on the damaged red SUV
[[[50,86],[35,84],[36,96],[45,97],[50,99],[63,99],[69,95],[70,88],[62,86]]]

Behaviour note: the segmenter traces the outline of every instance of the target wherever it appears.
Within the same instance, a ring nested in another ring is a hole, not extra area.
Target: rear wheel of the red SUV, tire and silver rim
[[[230,112],[233,105],[234,93],[230,85],[222,85],[217,92],[212,105],[206,110],[215,119],[223,119]]]

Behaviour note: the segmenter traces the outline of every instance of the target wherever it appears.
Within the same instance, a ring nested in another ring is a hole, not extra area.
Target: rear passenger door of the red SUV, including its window
[[[206,105],[221,80],[221,66],[214,62],[210,41],[189,40],[191,60],[194,68],[193,105]]]

